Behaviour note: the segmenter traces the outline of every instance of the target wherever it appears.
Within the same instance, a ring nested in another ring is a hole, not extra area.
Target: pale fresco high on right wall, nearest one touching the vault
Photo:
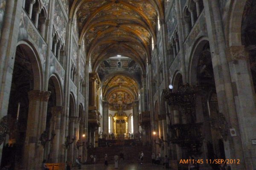
[[[173,31],[175,30],[175,27],[177,25],[177,20],[176,20],[176,11],[175,11],[175,1],[174,4],[172,5],[171,11],[168,15],[167,18],[167,36],[168,36],[168,41],[171,42],[171,36]]]

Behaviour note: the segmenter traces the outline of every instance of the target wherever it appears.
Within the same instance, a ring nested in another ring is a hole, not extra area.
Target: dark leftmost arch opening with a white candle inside
[[[30,107],[34,100],[33,94],[38,97],[41,87],[41,69],[37,58],[35,51],[26,42],[17,46],[7,112],[10,133],[9,139],[4,142],[1,167],[10,164],[14,170],[24,164],[26,134],[31,133],[31,127],[27,126],[33,125],[32,122],[36,122],[34,118],[39,114]]]

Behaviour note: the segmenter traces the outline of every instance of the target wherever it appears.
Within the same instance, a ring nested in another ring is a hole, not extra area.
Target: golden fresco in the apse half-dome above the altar
[[[108,97],[109,109],[116,111],[121,107],[123,111],[130,110],[134,102],[133,96],[127,91],[114,91]]]

